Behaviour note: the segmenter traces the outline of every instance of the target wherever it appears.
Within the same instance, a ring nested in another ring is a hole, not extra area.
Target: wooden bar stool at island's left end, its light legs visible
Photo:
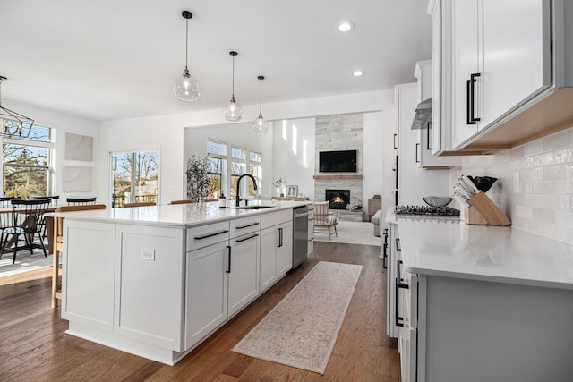
[[[56,212],[87,211],[90,209],[106,209],[105,204],[84,204],[78,206],[60,206]],[[64,217],[54,218],[54,232],[52,233],[52,308],[57,307],[57,301],[62,300],[62,284],[59,282],[60,252],[64,250]]]

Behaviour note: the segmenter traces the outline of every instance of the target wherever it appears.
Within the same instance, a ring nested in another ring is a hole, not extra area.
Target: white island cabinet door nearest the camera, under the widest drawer
[[[227,319],[227,242],[187,252],[185,349]]]

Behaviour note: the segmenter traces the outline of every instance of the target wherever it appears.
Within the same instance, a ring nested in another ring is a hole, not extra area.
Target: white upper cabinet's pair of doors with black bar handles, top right
[[[452,148],[444,149],[458,149],[551,85],[549,2],[438,2],[442,9],[434,6],[433,21],[438,22],[442,11],[442,33],[451,22],[451,55],[443,55],[449,51],[449,41],[433,43],[440,42],[438,57],[451,60],[453,73],[451,88],[448,81],[440,82],[441,102],[451,91],[453,113],[451,126],[442,121],[440,129],[451,135]]]

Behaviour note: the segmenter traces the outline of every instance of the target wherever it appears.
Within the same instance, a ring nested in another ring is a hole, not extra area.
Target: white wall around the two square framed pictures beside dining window
[[[65,200],[68,197],[89,198],[98,196],[98,201],[103,199],[98,195],[98,172],[99,172],[99,127],[100,123],[91,121],[84,118],[79,118],[74,115],[65,115],[53,110],[43,107],[30,106],[18,102],[4,102],[4,107],[8,107],[22,115],[29,116],[34,119],[34,123],[40,126],[47,126],[54,128],[54,147],[55,157],[53,158],[55,176],[55,190],[53,195],[59,195],[60,200]],[[65,133],[71,132],[74,134],[85,135],[93,137],[93,159],[91,162],[73,161],[64,159],[65,154]],[[82,166],[92,168],[91,188],[89,192],[64,192],[64,166]]]

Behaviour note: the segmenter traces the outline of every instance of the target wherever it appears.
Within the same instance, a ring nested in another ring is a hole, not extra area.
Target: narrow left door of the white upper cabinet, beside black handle
[[[481,0],[452,1],[453,14],[453,105],[454,113],[452,143],[458,146],[477,132],[477,124],[468,124],[469,112],[474,107],[475,116],[478,110],[476,102],[471,103],[468,81],[471,75],[479,72],[478,57],[478,14]],[[482,78],[483,80],[483,78]],[[476,80],[473,97],[479,99],[483,81]]]

